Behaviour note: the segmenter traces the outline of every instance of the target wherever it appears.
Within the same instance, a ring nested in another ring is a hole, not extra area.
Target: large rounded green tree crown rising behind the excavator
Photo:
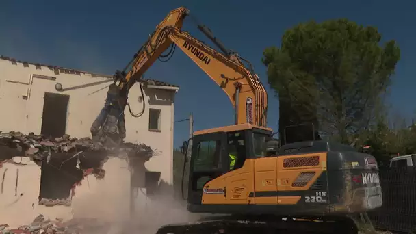
[[[372,125],[400,60],[395,41],[380,40],[376,28],[347,19],[310,21],[285,31],[280,48],[265,49],[279,131],[312,122],[321,135],[350,143]]]

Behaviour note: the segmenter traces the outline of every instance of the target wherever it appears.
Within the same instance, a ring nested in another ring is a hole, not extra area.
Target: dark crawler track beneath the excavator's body
[[[245,233],[337,233],[356,234],[358,229],[348,217],[237,217],[222,216],[198,222],[162,226],[157,234],[245,234]]]

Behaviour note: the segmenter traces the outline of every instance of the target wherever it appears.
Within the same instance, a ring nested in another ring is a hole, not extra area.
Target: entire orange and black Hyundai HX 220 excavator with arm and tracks
[[[112,126],[103,127],[102,118],[92,125],[93,135],[116,125],[122,129],[120,110],[128,105],[129,89],[136,82],[142,87],[144,72],[157,59],[169,57],[172,53],[162,55],[169,47],[170,52],[179,47],[229,96],[235,125],[196,131],[190,150],[187,209],[216,215],[162,226],[157,233],[357,233],[348,215],[382,205],[376,159],[350,146],[314,139],[270,153],[268,94],[250,62],[226,49],[205,25],[198,29],[221,52],[183,31],[187,17],[189,10],[177,8],[157,25],[125,70],[114,76],[109,96],[119,100],[106,102],[105,109]],[[120,131],[120,138],[124,134]],[[232,168],[231,151],[236,157]]]

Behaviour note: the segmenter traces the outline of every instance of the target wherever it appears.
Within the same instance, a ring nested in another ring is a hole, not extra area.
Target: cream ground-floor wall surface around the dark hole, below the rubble
[[[94,175],[83,178],[75,187],[72,205],[46,207],[38,205],[40,192],[40,166],[28,157],[15,157],[0,168],[0,223],[11,228],[29,225],[42,214],[45,218],[64,221],[71,218],[96,218],[101,222],[122,224],[130,216],[130,173],[125,159],[109,158],[103,165],[105,177]]]

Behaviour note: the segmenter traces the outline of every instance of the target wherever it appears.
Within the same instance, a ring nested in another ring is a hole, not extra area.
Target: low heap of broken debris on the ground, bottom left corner
[[[31,234],[73,234],[73,233],[106,233],[110,225],[98,222],[95,219],[73,219],[67,222],[62,220],[49,220],[39,215],[30,225],[21,226],[18,229],[8,229],[8,224],[0,225],[0,234],[31,233]]]

